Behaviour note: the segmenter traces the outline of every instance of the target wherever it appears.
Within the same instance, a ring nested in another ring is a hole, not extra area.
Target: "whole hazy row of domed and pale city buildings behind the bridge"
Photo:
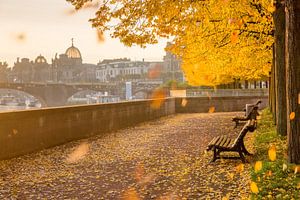
[[[171,45],[168,43],[168,45]],[[2,66],[3,65],[3,66]],[[0,66],[3,71],[4,64]],[[53,82],[53,83],[93,83],[158,80],[183,81],[180,61],[167,52],[163,62],[131,61],[128,58],[105,59],[98,64],[83,63],[80,50],[71,46],[65,53],[55,54],[48,63],[39,55],[34,60],[17,58],[12,68],[5,68],[9,82]],[[3,73],[4,73],[3,71]],[[3,74],[2,74],[3,76]],[[1,78],[1,77],[0,77]],[[5,77],[1,78],[5,79]]]

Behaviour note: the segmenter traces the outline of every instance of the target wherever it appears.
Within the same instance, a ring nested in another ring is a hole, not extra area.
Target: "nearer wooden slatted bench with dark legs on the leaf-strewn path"
[[[207,151],[212,150],[214,152],[211,162],[216,161],[220,158],[225,159],[241,159],[242,162],[246,162],[245,155],[252,155],[249,153],[244,144],[244,137],[248,131],[253,132],[256,127],[256,120],[249,120],[238,134],[236,139],[230,139],[226,136],[219,136],[212,139],[212,141],[207,146]],[[239,157],[221,157],[221,152],[237,152]]]

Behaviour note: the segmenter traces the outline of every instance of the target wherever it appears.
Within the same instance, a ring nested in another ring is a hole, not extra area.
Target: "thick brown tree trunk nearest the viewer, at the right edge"
[[[300,163],[300,1],[286,1],[286,93],[288,158]],[[292,114],[291,114],[292,113]],[[294,117],[293,117],[294,113]]]

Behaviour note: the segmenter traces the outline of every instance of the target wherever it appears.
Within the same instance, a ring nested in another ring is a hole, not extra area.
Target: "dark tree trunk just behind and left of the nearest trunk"
[[[286,91],[285,91],[285,12],[284,6],[277,3],[274,12],[275,24],[275,81],[276,81],[276,127],[277,133],[286,135]]]

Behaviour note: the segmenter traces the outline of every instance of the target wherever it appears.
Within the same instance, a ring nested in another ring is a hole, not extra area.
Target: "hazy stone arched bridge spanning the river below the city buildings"
[[[158,87],[158,82],[133,82],[133,95],[138,92],[149,96],[151,91]],[[125,96],[125,83],[0,83],[1,89],[11,89],[25,92],[40,101],[42,107],[57,107],[67,104],[68,98],[77,92],[91,90],[108,92],[109,95]]]

